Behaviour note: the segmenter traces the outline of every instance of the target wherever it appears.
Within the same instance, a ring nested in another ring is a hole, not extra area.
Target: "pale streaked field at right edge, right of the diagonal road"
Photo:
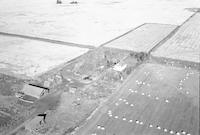
[[[184,23],[152,55],[200,63],[200,13]]]

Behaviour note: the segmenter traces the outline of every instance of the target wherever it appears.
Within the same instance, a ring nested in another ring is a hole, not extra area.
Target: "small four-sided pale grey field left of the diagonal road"
[[[166,24],[144,24],[105,46],[148,53],[176,27],[176,25]]]

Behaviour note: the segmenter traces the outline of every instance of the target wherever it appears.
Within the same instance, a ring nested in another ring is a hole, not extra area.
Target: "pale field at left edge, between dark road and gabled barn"
[[[86,51],[88,49],[0,36],[0,72],[33,78]]]

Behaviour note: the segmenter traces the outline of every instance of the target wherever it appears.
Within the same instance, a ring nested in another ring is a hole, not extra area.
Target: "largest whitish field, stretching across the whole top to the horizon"
[[[99,46],[143,23],[179,25],[200,0],[1,0],[0,31]]]

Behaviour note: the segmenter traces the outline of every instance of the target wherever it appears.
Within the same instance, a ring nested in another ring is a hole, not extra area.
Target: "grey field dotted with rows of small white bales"
[[[198,135],[199,72],[143,64],[77,135]]]

